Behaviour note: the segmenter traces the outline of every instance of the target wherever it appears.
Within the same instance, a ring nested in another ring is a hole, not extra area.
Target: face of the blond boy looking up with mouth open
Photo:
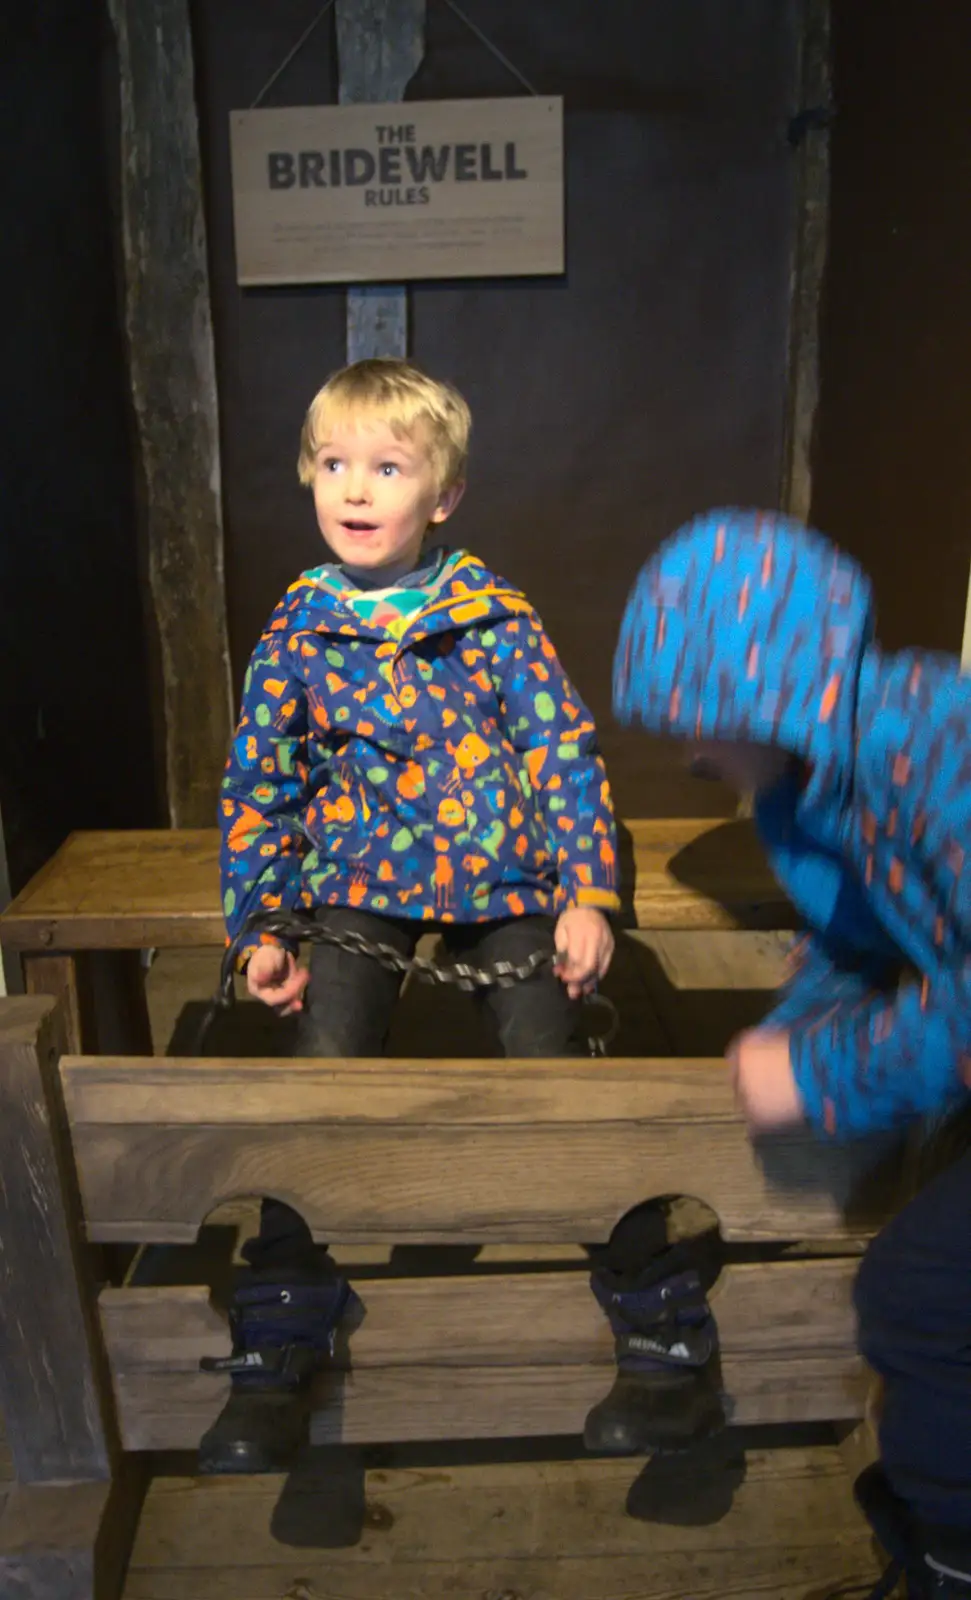
[[[438,488],[421,430],[398,438],[378,418],[331,424],[317,451],[317,522],[338,560],[349,566],[408,571],[429,523],[445,522],[462,490],[462,483]]]

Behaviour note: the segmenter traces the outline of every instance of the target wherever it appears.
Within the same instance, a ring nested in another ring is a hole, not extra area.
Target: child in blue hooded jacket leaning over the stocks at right
[[[808,923],[795,976],[729,1048],[753,1133],[851,1138],[957,1106],[971,1082],[971,682],[883,654],[870,587],[782,517],[701,517],[627,605],[614,702],[755,790]],[[910,1594],[971,1597],[971,1154],[872,1243],[861,1347],[885,1382],[857,1496]],[[880,1594],[885,1594],[880,1589]]]

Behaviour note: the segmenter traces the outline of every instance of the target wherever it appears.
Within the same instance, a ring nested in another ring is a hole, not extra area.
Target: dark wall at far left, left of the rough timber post
[[[16,890],[74,827],[157,819],[98,0],[0,50],[0,810]]]

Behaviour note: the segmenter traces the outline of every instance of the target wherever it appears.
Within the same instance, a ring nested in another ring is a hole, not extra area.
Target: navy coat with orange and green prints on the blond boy
[[[593,720],[536,611],[464,550],[418,578],[355,590],[318,566],[267,622],[222,781],[230,938],[280,907],[619,906]]]

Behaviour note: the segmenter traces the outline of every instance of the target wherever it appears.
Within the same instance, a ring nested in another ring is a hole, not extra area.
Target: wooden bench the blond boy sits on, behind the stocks
[[[94,1026],[99,990],[123,1048],[150,1053],[138,952],[222,946],[218,851],[216,829],[72,834],[0,915],[0,946],[22,957],[29,994],[61,1000],[72,1050],[118,1048]],[[747,821],[622,824],[621,891],[641,931],[795,925]]]

